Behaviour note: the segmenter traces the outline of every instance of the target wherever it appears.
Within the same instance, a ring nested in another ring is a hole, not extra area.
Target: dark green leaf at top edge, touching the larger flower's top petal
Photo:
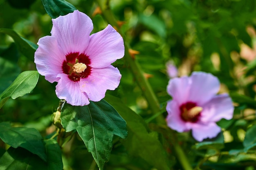
[[[65,0],[42,0],[45,11],[52,18],[56,18],[60,15],[67,15],[76,10],[72,4]]]

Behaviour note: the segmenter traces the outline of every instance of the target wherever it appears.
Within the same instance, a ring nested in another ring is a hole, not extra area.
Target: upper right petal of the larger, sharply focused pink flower
[[[85,54],[91,60],[91,67],[104,68],[124,57],[124,40],[111,25],[108,25],[104,30],[90,36]]]

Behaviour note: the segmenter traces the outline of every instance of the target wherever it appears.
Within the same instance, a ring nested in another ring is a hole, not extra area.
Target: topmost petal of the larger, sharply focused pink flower
[[[73,13],[52,19],[52,23],[52,36],[58,39],[58,45],[65,54],[84,52],[93,29],[90,17],[76,10]]]

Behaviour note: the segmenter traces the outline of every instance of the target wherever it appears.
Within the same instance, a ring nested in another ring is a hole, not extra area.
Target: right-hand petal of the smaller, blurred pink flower
[[[228,94],[214,96],[209,102],[202,105],[200,121],[218,122],[222,118],[230,120],[233,118],[234,106]]]

